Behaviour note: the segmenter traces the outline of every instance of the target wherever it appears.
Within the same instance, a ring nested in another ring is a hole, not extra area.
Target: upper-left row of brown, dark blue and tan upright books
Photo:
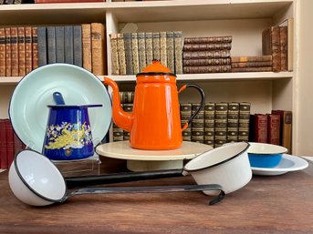
[[[67,63],[106,74],[104,25],[0,28],[0,76],[25,76],[38,66]]]

